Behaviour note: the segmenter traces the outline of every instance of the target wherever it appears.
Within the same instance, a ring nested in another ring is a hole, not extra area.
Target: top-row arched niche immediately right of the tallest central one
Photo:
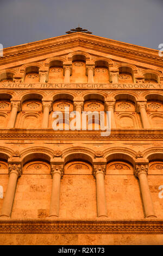
[[[95,62],[95,83],[109,83],[109,70],[108,62],[105,60],[97,60]]]

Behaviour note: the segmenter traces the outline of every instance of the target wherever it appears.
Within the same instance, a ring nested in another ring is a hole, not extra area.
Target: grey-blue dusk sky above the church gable
[[[3,47],[64,35],[71,28],[158,49],[163,0],[1,0]]]

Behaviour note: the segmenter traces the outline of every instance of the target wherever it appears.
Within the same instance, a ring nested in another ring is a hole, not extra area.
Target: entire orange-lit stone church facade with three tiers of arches
[[[158,53],[81,32],[4,49],[1,245],[163,244]],[[110,134],[70,129],[65,108],[109,112]]]

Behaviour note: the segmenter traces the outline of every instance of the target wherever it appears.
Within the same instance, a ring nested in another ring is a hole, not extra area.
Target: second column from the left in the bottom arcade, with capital
[[[60,205],[60,180],[64,174],[64,164],[52,164],[51,174],[53,178],[51,206],[49,210],[49,217],[59,217]]]

